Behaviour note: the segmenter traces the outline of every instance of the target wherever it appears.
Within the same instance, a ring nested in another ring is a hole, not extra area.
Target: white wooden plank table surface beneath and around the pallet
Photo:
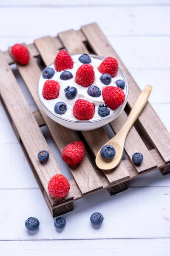
[[[0,0],[0,49],[95,21],[141,89],[153,85],[150,103],[170,131],[170,0]],[[71,178],[48,130],[42,131]],[[157,170],[115,196],[102,191],[76,201],[58,232],[1,103],[0,162],[0,255],[170,255],[170,175]],[[95,211],[105,217],[99,229],[89,220]],[[24,227],[30,216],[40,220],[34,234]]]

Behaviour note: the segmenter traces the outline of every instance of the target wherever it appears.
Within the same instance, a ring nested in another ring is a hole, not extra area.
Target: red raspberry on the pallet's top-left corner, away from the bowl
[[[27,47],[22,44],[14,44],[11,48],[11,54],[14,59],[21,65],[26,65],[29,62],[29,52]]]

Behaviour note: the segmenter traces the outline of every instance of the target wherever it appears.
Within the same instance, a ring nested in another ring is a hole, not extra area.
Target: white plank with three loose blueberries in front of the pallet
[[[107,191],[98,192],[74,203],[59,233],[39,189],[1,189],[0,240],[170,238],[169,201],[170,187],[129,188],[112,197]],[[90,223],[96,211],[104,215],[99,229]],[[29,233],[24,227],[30,216],[40,220],[37,232]]]

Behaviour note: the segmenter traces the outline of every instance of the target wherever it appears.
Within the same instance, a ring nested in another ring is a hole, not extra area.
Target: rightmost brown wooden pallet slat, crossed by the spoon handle
[[[96,23],[82,26],[82,32],[97,55],[103,57],[113,56],[118,60],[119,67],[125,73],[129,83],[130,93],[128,97],[128,104],[132,108],[141,90],[112,48],[108,39]],[[170,161],[170,134],[149,102],[145,106],[142,114],[139,116],[139,121],[155,147],[158,149],[163,160],[168,163]]]

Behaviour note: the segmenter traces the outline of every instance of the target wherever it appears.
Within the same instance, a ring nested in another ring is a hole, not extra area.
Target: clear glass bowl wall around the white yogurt
[[[78,55],[78,54],[75,54]],[[71,56],[75,56],[75,55],[71,55]],[[105,58],[100,57],[98,55],[94,55],[94,54],[88,54],[90,57],[93,58],[98,58],[100,60],[104,60]],[[52,63],[53,64],[53,63]],[[49,65],[51,66],[51,65]],[[71,120],[71,119],[65,119],[64,117],[62,117],[62,115],[58,115],[55,112],[52,112],[42,101],[42,96],[40,95],[40,88],[39,88],[39,81],[38,81],[38,87],[37,87],[37,91],[38,91],[38,97],[40,99],[41,105],[43,110],[45,111],[45,113],[51,118],[53,119],[55,122],[59,123],[60,125],[72,129],[72,130],[76,130],[76,131],[90,131],[90,130],[94,130],[96,128],[100,128],[103,125],[108,124],[109,122],[113,121],[114,119],[116,119],[117,116],[120,115],[120,113],[124,110],[125,105],[127,103],[127,97],[128,97],[128,93],[129,93],[129,86],[128,86],[128,82],[127,79],[125,77],[125,74],[122,72],[122,70],[119,68],[119,72],[121,73],[124,81],[125,81],[125,89],[124,89],[124,93],[125,93],[125,102],[119,107],[117,108],[115,111],[113,111],[113,113],[111,113],[108,116],[102,117],[100,119],[95,119],[95,120]],[[102,74],[101,74],[102,75]]]

